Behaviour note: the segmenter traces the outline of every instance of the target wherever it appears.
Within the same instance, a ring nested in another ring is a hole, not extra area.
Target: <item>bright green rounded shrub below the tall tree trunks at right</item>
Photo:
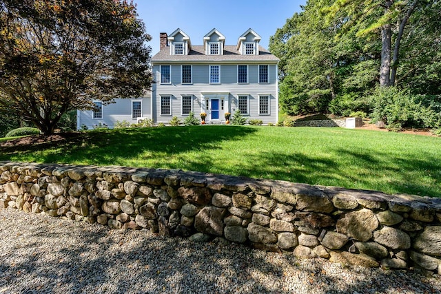
[[[396,87],[378,87],[371,96],[374,105],[371,118],[374,123],[384,121],[387,128],[392,130],[440,126],[441,116],[424,105],[426,98]]]

